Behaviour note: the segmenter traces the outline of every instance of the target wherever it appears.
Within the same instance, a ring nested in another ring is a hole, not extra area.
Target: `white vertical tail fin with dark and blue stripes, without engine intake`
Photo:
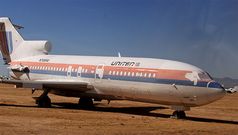
[[[11,62],[10,54],[24,40],[7,17],[0,18],[0,49],[5,64]]]

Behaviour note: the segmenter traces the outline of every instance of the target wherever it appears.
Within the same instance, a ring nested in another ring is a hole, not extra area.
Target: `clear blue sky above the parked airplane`
[[[238,0],[1,0],[0,16],[54,54],[121,52],[238,78]]]

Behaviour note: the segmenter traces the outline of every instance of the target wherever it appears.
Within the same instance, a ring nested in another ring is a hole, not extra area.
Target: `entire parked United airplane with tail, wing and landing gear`
[[[8,17],[0,18],[0,49],[16,88],[42,90],[39,107],[51,107],[48,93],[94,101],[129,100],[170,106],[173,118],[185,111],[221,99],[225,89],[204,70],[178,61],[134,58],[50,55],[52,44],[24,40]]]

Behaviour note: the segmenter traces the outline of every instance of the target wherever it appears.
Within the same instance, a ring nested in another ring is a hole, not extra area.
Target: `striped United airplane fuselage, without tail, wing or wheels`
[[[176,106],[200,106],[224,96],[222,86],[203,70],[182,62],[152,58],[39,55],[10,63],[18,80],[89,82],[93,89],[50,90],[71,97],[126,99]]]

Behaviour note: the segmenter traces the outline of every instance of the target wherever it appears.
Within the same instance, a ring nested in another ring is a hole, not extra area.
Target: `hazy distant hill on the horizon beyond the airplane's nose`
[[[217,82],[224,85],[225,88],[233,88],[235,86],[238,86],[238,79],[232,79],[229,77],[225,78],[214,78]]]

